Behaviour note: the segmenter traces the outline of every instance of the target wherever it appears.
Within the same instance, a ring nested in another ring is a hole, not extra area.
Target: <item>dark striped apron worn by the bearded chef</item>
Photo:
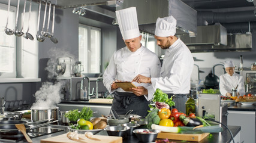
[[[186,114],[186,101],[188,100],[187,94],[167,94],[168,98],[173,97],[173,101],[175,102],[175,106],[172,108],[176,108],[179,112]]]

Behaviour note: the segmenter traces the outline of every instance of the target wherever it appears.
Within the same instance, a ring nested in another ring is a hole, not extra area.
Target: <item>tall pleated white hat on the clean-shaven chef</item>
[[[137,38],[140,36],[135,7],[129,7],[116,11],[116,20],[124,40]]]

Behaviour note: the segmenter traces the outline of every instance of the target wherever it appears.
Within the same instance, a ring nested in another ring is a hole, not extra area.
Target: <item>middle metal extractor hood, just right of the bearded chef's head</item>
[[[197,35],[191,37],[180,35],[180,39],[187,45],[227,45],[227,30],[221,24],[198,26]]]

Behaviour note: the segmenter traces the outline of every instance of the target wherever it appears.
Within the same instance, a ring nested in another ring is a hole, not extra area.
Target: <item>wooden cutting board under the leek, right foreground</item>
[[[174,140],[184,140],[184,141],[195,141],[200,142],[210,133],[195,133],[195,134],[188,134],[188,133],[167,133],[167,132],[159,132],[157,138],[161,139],[174,139]]]

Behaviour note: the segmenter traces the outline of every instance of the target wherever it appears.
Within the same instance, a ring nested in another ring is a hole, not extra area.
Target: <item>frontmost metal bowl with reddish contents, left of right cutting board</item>
[[[133,130],[140,142],[155,142],[160,130],[155,129],[135,129]]]

